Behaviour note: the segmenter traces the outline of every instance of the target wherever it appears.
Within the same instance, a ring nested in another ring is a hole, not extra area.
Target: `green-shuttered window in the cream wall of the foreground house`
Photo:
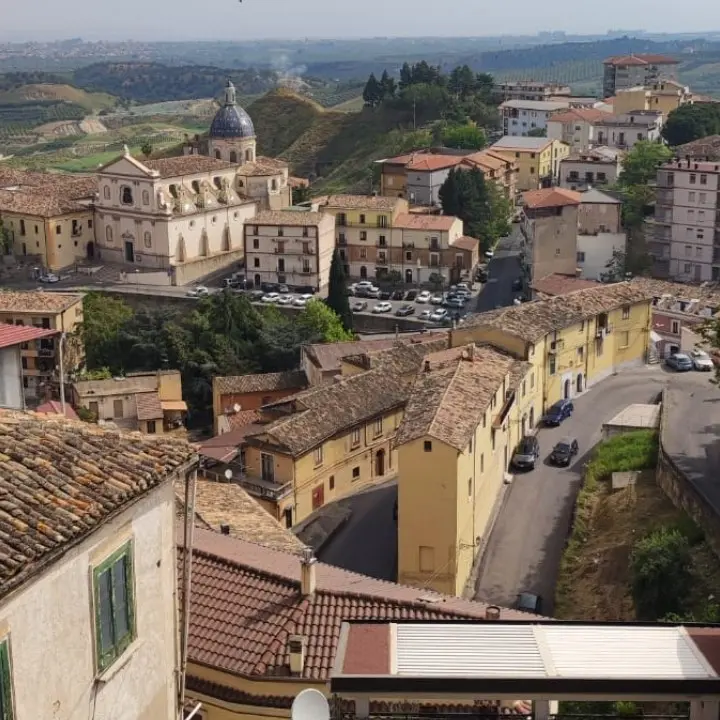
[[[93,568],[98,670],[115,662],[135,637],[132,542]]]

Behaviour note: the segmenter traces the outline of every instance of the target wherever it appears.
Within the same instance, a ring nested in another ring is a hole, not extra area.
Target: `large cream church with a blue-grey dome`
[[[88,255],[157,272],[172,285],[239,267],[244,225],[292,202],[287,163],[258,156],[256,145],[253,122],[228,81],[206,140],[157,160],[141,161],[126,148],[97,171]]]

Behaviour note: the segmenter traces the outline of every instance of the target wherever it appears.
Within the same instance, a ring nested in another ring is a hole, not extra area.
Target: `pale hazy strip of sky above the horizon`
[[[0,0],[0,38],[248,40],[720,29],[718,0]]]

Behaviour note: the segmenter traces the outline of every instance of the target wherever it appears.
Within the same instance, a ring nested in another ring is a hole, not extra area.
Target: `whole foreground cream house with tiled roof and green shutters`
[[[192,448],[13,412],[0,445],[3,718],[177,720],[173,482]]]

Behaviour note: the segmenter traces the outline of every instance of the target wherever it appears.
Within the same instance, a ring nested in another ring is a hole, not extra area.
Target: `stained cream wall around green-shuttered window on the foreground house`
[[[96,679],[92,568],[134,543],[137,639]],[[16,717],[175,720],[175,497],[151,491],[5,599]]]

